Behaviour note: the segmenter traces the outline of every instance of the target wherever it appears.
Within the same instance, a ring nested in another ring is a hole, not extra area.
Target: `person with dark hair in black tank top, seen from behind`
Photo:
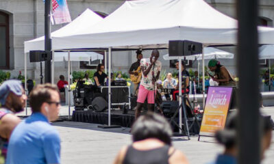
[[[188,163],[184,154],[171,146],[171,135],[171,126],[161,115],[140,116],[132,126],[132,145],[121,149],[114,164]]]

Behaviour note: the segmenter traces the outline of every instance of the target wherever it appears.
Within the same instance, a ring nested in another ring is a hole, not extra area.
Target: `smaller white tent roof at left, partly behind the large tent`
[[[56,31],[53,31],[51,33],[51,38],[71,36],[75,33],[79,33],[83,29],[86,29],[85,25],[95,25],[100,20],[103,20],[101,16],[99,16],[95,12],[92,12],[92,10],[90,9],[86,9],[82,14],[80,14],[68,25]],[[45,36],[41,36],[40,38],[36,38],[34,40],[29,40],[25,42],[25,53],[28,53],[32,50],[45,50]]]

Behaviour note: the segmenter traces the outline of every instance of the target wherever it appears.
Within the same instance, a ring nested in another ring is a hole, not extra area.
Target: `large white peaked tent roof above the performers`
[[[267,30],[274,31],[260,27]],[[96,25],[73,36],[53,37],[53,49],[168,48],[169,40],[236,44],[236,32],[236,20],[203,0],[125,1]],[[260,37],[263,44],[274,43],[268,34]]]

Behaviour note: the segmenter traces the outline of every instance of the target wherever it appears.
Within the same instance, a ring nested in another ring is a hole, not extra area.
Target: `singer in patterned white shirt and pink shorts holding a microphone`
[[[142,104],[147,99],[147,109],[153,111],[153,105],[155,102],[155,91],[157,85],[155,81],[159,79],[162,63],[158,61],[159,51],[154,49],[151,53],[151,57],[140,60],[140,67],[142,70],[142,79],[140,81],[140,87],[137,98],[137,106],[135,110],[135,120],[140,116],[140,110]]]

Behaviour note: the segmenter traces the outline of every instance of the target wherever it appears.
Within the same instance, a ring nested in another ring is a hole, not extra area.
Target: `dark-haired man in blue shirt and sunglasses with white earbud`
[[[33,114],[18,124],[10,137],[7,163],[60,163],[60,137],[49,122],[58,119],[58,87],[38,85],[29,96]]]

